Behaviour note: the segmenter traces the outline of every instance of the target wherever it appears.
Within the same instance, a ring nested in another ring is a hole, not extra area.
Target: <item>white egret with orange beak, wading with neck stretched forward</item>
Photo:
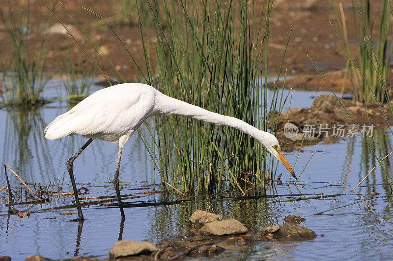
[[[89,95],[68,112],[57,116],[45,128],[45,138],[50,140],[76,134],[89,139],[67,161],[67,169],[70,174],[78,209],[78,219],[76,220],[83,220],[84,217],[73,174],[72,166],[74,160],[94,139],[119,143],[113,185],[116,190],[121,216],[124,217],[118,178],[121,151],[124,143],[131,138],[143,121],[157,115],[179,115],[238,129],[261,142],[288,169],[292,176],[296,178],[291,166],[289,166],[285,157],[282,155],[280,144],[274,135],[261,131],[243,120],[210,112],[187,102],[169,97],[146,84],[118,84]]]

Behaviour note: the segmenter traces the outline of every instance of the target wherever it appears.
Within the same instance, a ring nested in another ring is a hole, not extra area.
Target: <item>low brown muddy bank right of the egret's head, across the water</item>
[[[342,104],[342,105],[341,105]],[[344,108],[345,109],[344,109]],[[376,128],[393,123],[391,105],[365,105],[333,95],[320,95],[310,108],[290,109],[274,120],[277,136],[286,142],[335,142],[337,138],[371,137]]]

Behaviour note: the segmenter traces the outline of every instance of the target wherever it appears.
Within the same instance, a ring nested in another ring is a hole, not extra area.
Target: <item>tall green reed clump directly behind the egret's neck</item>
[[[268,97],[267,84],[263,89],[260,80],[262,71],[267,76],[271,2],[265,1],[258,21],[246,0],[147,0],[137,7],[142,4],[155,17],[153,28],[147,27],[139,13],[148,83],[166,95],[267,131],[271,109],[281,104],[275,102],[277,88]],[[243,191],[250,183],[264,187],[267,153],[248,135],[182,117],[157,117],[152,128],[150,137],[140,135],[162,180],[172,187],[189,192],[227,186]]]

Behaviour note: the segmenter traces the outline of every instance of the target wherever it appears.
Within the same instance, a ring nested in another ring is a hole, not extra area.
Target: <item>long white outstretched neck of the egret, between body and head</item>
[[[156,96],[155,104],[156,115],[179,115],[216,125],[232,127],[252,136],[265,147],[267,144],[264,143],[268,140],[267,138],[273,136],[268,132],[264,132],[253,127],[241,119],[210,112],[159,92]]]

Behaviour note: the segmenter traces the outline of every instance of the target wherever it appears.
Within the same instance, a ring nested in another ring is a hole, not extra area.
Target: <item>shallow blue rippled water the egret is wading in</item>
[[[61,96],[58,83],[52,82],[45,95]],[[98,89],[94,87],[92,90]],[[309,107],[317,92],[293,92],[291,107]],[[66,137],[60,140],[43,139],[43,128],[57,115],[67,109],[59,102],[47,104],[44,108],[31,113],[0,110],[0,120],[4,122],[0,129],[0,141],[3,149],[0,158],[9,164],[21,178],[29,183],[48,184],[63,180],[66,160],[79,149],[83,137]],[[284,109],[285,110],[285,109]],[[379,131],[375,135],[380,142],[382,154],[392,150],[392,135]],[[382,142],[384,141],[384,142]],[[8,208],[0,202],[0,255],[10,256],[13,260],[23,260],[29,255],[40,254],[52,259],[78,256],[97,256],[104,259],[115,243],[119,234],[124,240],[149,240],[157,243],[163,237],[186,235],[186,224],[190,214],[198,208],[222,214],[224,218],[234,217],[242,221],[250,231],[258,231],[269,224],[281,224],[287,214],[296,214],[306,218],[301,225],[318,235],[313,240],[303,242],[256,242],[237,250],[225,251],[217,256],[220,260],[261,260],[261,259],[318,259],[318,260],[368,260],[392,259],[393,245],[393,207],[389,197],[390,189],[384,181],[386,177],[377,167],[368,179],[355,190],[352,189],[374,166],[370,152],[365,149],[364,141],[359,137],[346,137],[337,143],[318,143],[305,147],[304,152],[294,167],[298,174],[309,160],[312,152],[317,151],[299,179],[297,186],[277,184],[269,188],[267,194],[346,194],[324,199],[308,199],[294,202],[282,202],[292,197],[260,198],[253,200],[225,200],[203,203],[176,204],[169,206],[139,206],[125,208],[126,219],[121,224],[119,210],[115,207],[93,205],[84,209],[83,226],[76,222],[66,222],[76,215],[63,215],[67,210],[53,210],[46,213],[33,213],[30,217],[19,218],[8,215]],[[293,166],[297,152],[286,155]],[[112,179],[117,157],[117,145],[94,141],[74,163],[77,187],[85,187],[89,192],[82,196],[109,195],[114,192],[108,179]],[[384,167],[392,178],[392,161]],[[289,178],[289,173],[279,165],[282,180]],[[3,173],[3,172],[2,172]],[[21,187],[19,180],[8,171],[13,187]],[[107,177],[107,178],[106,178]],[[120,170],[120,180],[124,190],[122,194],[141,191],[160,190],[159,177],[154,174],[150,157],[135,135],[124,147]],[[0,187],[5,186],[5,177],[0,175]],[[103,187],[107,185],[107,187]],[[68,174],[64,175],[63,191],[72,191]],[[375,193],[379,193],[376,195]],[[81,197],[82,197],[81,196]],[[127,202],[153,203],[181,198],[165,198],[161,193],[139,195]],[[5,190],[0,198],[6,198]],[[200,195],[198,199],[212,198]],[[297,197],[300,198],[301,197]],[[313,215],[332,208],[358,202],[347,207]],[[45,205],[36,205],[30,211],[72,204],[71,197],[58,197]],[[151,205],[151,204],[150,204]],[[23,207],[14,207],[25,210]],[[121,231],[121,227],[123,227]],[[320,236],[323,234],[324,236]],[[207,259],[207,258],[206,258]]]

